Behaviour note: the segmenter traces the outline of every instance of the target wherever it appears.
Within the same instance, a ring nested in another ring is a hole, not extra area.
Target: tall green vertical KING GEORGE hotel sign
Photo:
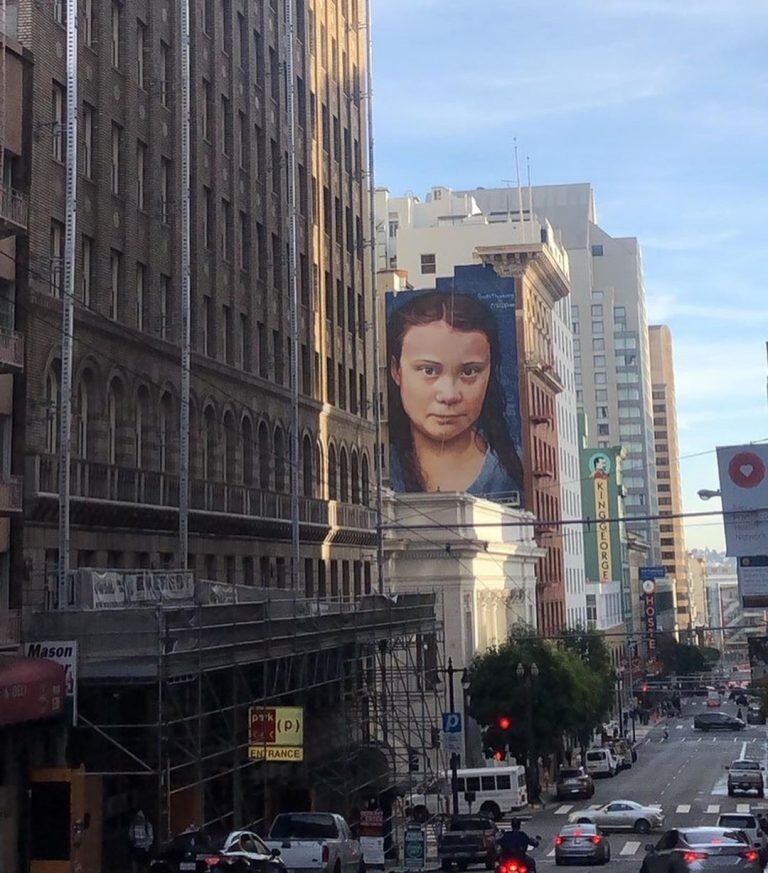
[[[621,526],[609,521],[623,513],[619,508],[621,449],[581,450],[581,501],[585,518],[595,519],[584,528],[584,562],[591,582],[623,580]]]

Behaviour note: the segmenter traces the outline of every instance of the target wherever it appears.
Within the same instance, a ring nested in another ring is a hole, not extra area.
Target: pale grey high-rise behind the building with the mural
[[[509,188],[458,192],[471,197],[488,220],[517,216]],[[528,207],[523,197],[525,217]],[[656,515],[656,461],[651,408],[648,326],[640,246],[633,237],[612,237],[597,223],[592,186],[542,185],[530,192],[534,214],[562,236],[571,275],[576,396],[598,447],[621,444],[628,519]],[[629,522],[658,557],[658,524]],[[663,599],[663,595],[662,595]]]

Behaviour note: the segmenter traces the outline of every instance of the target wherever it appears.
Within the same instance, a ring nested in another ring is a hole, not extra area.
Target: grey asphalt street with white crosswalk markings
[[[595,781],[595,796],[588,801],[549,803],[534,811],[525,829],[531,836],[541,835],[541,846],[533,852],[539,869],[554,867],[554,838],[566,824],[571,812],[592,804],[612,800],[635,800],[660,803],[666,815],[666,827],[714,825],[721,812],[747,812],[750,808],[768,809],[768,800],[754,794],[728,797],[725,765],[739,757],[756,758],[766,763],[768,734],[764,725],[748,725],[738,733],[702,733],[693,730],[693,715],[704,708],[695,699],[683,709],[680,719],[667,723],[669,739],[663,739],[659,724],[638,746],[638,760],[631,770],[613,779]],[[732,704],[723,710],[735,714]],[[656,842],[658,833],[642,836],[628,832],[609,835],[611,862],[603,869],[629,873],[639,870],[645,845]]]

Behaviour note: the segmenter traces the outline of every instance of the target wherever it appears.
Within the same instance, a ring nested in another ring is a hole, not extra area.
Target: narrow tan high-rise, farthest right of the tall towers
[[[678,518],[662,519],[661,563],[668,580],[673,580],[677,602],[677,623],[689,628],[694,621],[695,605],[691,598],[685,552],[685,529],[679,515],[683,511],[680,482],[680,449],[677,440],[677,405],[672,333],[665,324],[648,328],[651,358],[651,392],[653,430],[656,448],[656,490],[659,512]]]

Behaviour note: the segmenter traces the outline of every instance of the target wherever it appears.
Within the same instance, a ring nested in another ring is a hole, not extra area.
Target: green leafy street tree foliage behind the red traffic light
[[[532,664],[539,675],[530,679]],[[525,675],[517,675],[522,664]],[[599,634],[575,630],[558,641],[542,640],[528,628],[513,631],[497,648],[478,655],[469,669],[469,711],[495,734],[499,716],[506,715],[510,752],[525,757],[530,730],[536,755],[557,752],[564,735],[583,745],[610,708],[613,672],[605,643]],[[531,724],[527,723],[531,695]]]

